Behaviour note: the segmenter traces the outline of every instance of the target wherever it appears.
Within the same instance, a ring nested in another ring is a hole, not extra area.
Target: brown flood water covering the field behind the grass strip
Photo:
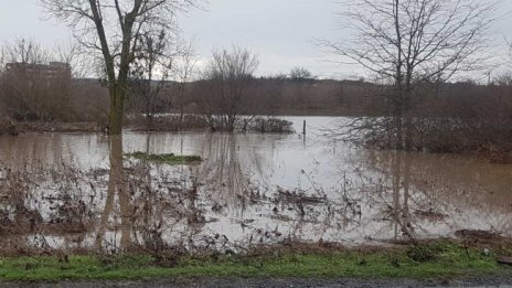
[[[297,131],[306,119],[307,135],[126,131],[117,142],[96,134],[2,136],[1,230],[29,246],[111,249],[154,237],[239,248],[382,244],[461,230],[512,236],[512,166],[361,149],[322,136],[344,118],[288,119]],[[122,160],[135,151],[204,161]]]

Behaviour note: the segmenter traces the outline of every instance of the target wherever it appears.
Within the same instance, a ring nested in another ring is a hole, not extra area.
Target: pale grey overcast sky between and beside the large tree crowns
[[[53,46],[71,39],[70,30],[45,21],[36,0],[0,0],[0,42],[32,38]],[[206,60],[212,49],[232,44],[258,55],[258,75],[287,73],[303,66],[320,77],[345,78],[359,72],[324,61],[313,39],[343,39],[337,15],[343,7],[335,0],[210,0],[204,9],[181,18],[184,36],[195,38],[196,52]],[[512,11],[512,0],[499,9]],[[512,14],[498,21],[497,39],[512,36]],[[503,60],[504,61],[504,60]]]

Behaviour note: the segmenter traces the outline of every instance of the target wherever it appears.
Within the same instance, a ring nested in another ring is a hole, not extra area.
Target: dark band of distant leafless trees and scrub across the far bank
[[[63,82],[65,79],[30,87],[26,83],[1,78],[0,109],[18,121],[107,122],[108,89],[99,79]],[[386,97],[388,88],[363,81],[262,77],[247,86],[238,111],[242,115],[271,116],[386,116],[392,113]],[[153,100],[156,111],[180,113],[182,105],[186,114],[203,114],[204,106],[212,100],[210,81],[186,83],[182,96],[179,89],[178,83],[166,82]],[[417,116],[481,118],[505,117],[512,113],[509,108],[512,90],[506,83],[425,85],[418,90],[414,108]],[[140,95],[129,94],[127,113],[146,113],[145,106],[140,105],[142,102]]]

